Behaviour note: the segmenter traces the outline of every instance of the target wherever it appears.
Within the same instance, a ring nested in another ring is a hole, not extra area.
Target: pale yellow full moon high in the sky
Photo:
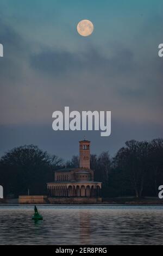
[[[77,31],[80,35],[88,36],[93,32],[93,23],[89,20],[82,20],[78,23]]]

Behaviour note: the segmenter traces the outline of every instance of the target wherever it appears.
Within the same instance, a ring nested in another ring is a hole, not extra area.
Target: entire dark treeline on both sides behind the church
[[[54,181],[54,171],[63,167],[76,168],[79,157],[66,163],[34,145],[10,150],[0,160],[0,184],[5,196],[46,194],[46,182]],[[163,185],[163,139],[127,141],[111,158],[109,152],[91,155],[95,180],[103,182],[103,197],[158,196]]]

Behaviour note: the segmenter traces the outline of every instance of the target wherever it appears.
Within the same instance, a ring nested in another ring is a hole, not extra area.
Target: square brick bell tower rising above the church
[[[90,169],[90,141],[79,141],[80,168]]]

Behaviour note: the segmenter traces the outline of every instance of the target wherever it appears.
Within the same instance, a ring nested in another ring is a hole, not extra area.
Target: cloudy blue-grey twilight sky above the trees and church
[[[70,159],[162,137],[161,0],[1,0],[0,156],[24,144]],[[94,31],[80,36],[88,19]],[[52,113],[111,111],[111,135],[53,131]]]

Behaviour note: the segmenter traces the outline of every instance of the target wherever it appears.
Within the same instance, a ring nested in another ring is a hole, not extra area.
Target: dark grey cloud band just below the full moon
[[[85,52],[66,52],[66,51],[42,51],[30,58],[33,69],[51,75],[64,75],[67,72],[76,71],[109,71],[125,72],[134,68],[134,54],[124,48],[120,51],[115,50],[114,57],[105,57],[95,47],[89,47]]]

